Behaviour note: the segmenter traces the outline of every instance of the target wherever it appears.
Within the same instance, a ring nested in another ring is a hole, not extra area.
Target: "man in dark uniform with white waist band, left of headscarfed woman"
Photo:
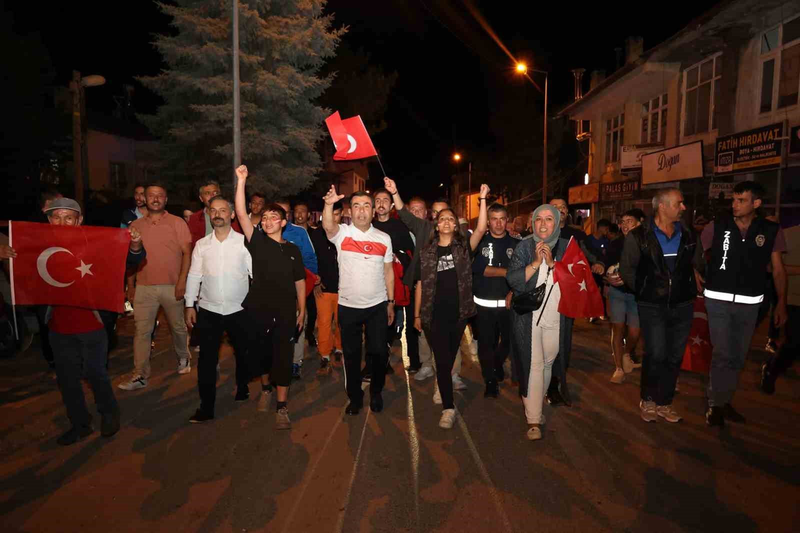
[[[478,359],[481,361],[486,398],[497,398],[498,381],[505,378],[502,365],[511,342],[510,309],[506,308],[506,267],[514,255],[518,237],[506,232],[508,211],[501,204],[488,209],[489,231],[478,243],[472,263],[472,290],[478,315],[475,329],[478,336]]]

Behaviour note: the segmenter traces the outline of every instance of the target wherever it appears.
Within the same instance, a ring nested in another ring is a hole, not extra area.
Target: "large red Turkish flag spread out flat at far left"
[[[10,222],[16,305],[70,305],[123,312],[127,229]]]

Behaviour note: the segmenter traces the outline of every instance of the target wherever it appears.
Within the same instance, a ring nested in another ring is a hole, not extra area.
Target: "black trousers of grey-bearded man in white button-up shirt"
[[[198,309],[198,322],[194,325],[196,339],[200,343],[198,360],[198,392],[200,393],[200,409],[209,416],[214,416],[214,404],[217,400],[217,363],[219,361],[219,345],[222,333],[228,332],[230,342],[234,345],[236,358],[236,387],[247,389],[250,381],[250,369],[247,365],[247,348],[250,339],[250,320],[242,310],[221,315],[204,308]]]

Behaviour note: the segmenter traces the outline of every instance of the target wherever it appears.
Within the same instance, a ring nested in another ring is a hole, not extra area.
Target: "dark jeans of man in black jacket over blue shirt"
[[[647,304],[638,307],[646,352],[642,359],[642,400],[670,405],[692,328],[694,305],[690,302],[676,308]]]

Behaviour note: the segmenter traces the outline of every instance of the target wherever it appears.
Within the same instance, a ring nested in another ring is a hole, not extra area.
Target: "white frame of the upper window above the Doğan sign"
[[[704,66],[710,64],[711,76],[708,79],[702,78],[702,70]],[[692,71],[694,74],[692,74]],[[693,79],[689,79],[693,78]],[[686,67],[682,72],[681,83],[681,96],[683,105],[681,106],[681,137],[692,137],[694,135],[703,135],[712,133],[717,130],[716,113],[714,113],[717,105],[717,98],[719,93],[720,81],[722,79],[722,51],[711,54],[702,61],[694,63]],[[691,85],[690,85],[691,84]],[[698,131],[698,121],[700,115],[698,114],[699,99],[702,93],[703,86],[709,86],[708,89],[708,121],[707,128],[703,131]],[[688,94],[687,92],[692,93]],[[689,124],[689,105],[694,98],[694,124]],[[689,127],[690,126],[690,127]]]

